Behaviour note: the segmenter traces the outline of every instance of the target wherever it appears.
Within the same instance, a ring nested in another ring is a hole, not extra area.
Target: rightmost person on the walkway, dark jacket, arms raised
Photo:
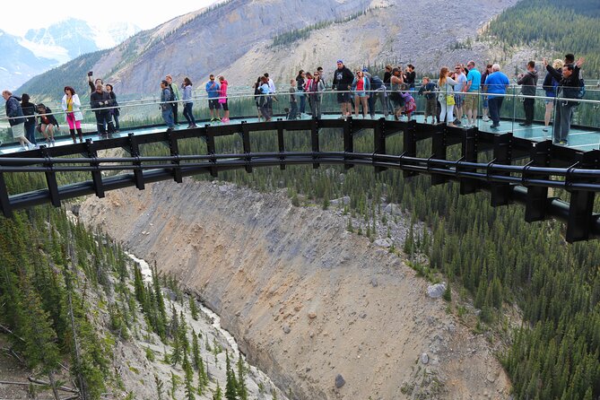
[[[570,131],[570,120],[572,110],[578,106],[578,101],[568,101],[562,99],[577,99],[580,90],[579,70],[585,59],[579,57],[575,65],[567,64],[562,67],[562,74],[559,74],[548,61],[543,58],[543,65],[548,74],[552,74],[554,79],[559,81],[557,97],[559,98],[554,113],[554,143],[569,144],[568,137]]]

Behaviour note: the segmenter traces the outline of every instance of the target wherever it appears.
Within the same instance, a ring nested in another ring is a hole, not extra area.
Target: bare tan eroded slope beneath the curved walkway
[[[86,200],[80,217],[178,276],[248,361],[297,397],[508,396],[489,343],[427,297],[428,283],[396,255],[344,234],[333,210],[225,188],[185,180],[113,191]],[[415,362],[424,352],[427,365]]]

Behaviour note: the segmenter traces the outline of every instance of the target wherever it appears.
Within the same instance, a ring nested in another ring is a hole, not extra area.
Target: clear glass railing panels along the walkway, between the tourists
[[[290,95],[287,91],[287,87],[278,85],[280,91],[275,95],[273,99],[273,117],[274,118],[286,118],[288,117],[291,109]],[[416,85],[413,91],[407,91],[411,94],[415,109],[412,112],[412,116],[416,118],[417,122],[424,122],[424,115],[427,112],[431,113],[431,108],[428,109],[428,100],[424,93],[419,94],[421,85]],[[485,121],[483,118],[484,107],[487,99],[487,117],[491,119],[490,106],[491,99],[494,96],[491,93],[478,91],[474,94],[465,93],[435,93],[434,97],[436,100],[436,107],[434,111],[435,119],[439,119],[439,108],[441,104],[438,103],[438,99],[446,99],[446,95],[454,95],[455,101],[459,99],[459,96],[476,96],[478,98],[477,105],[477,119],[475,120],[475,126],[484,132],[494,133],[508,133],[512,132],[518,137],[525,137],[534,141],[542,141],[552,139],[554,134],[554,119],[556,116],[556,110],[560,108],[561,104],[565,101],[561,98],[552,98],[546,96],[546,92],[541,86],[535,88],[535,94],[527,96],[524,93],[524,88],[519,85],[510,85],[506,93],[499,95],[501,97],[501,106],[499,109],[499,126],[492,128],[491,120]],[[224,122],[211,122],[211,114],[208,107],[208,99],[203,91],[198,91],[199,94],[195,94],[193,98],[192,113],[196,120],[197,126],[204,126],[205,124],[224,124]],[[352,93],[354,94],[354,93]],[[388,120],[394,120],[394,106],[392,105],[391,96],[396,94],[392,91],[372,91],[370,93],[370,100],[367,100],[368,111],[366,117],[379,118],[384,117],[384,112],[387,110]],[[320,106],[322,117],[324,118],[337,118],[342,117],[342,111],[340,103],[338,102],[337,91],[325,91],[319,93]],[[305,113],[304,118],[311,118],[312,111],[310,107],[311,97],[309,93],[304,93],[305,101]],[[533,100],[533,124],[532,126],[521,126],[526,122],[526,100]],[[253,89],[249,87],[240,87],[238,91],[230,91],[228,105],[230,109],[230,118],[234,120],[236,118],[244,117],[248,120],[248,123],[253,123],[258,120],[260,110],[257,109],[256,98],[253,95]],[[300,96],[297,96],[297,109],[300,112]],[[351,111],[352,117],[356,117],[355,109],[355,96],[351,96],[352,104]],[[360,99],[359,99],[360,100]],[[576,101],[576,100],[570,100]],[[465,127],[467,125],[465,115],[464,100],[458,100],[463,105],[462,110],[458,110],[455,105],[453,109],[456,112],[452,113],[450,123],[460,120],[459,127]],[[159,109],[161,101],[157,95],[150,96],[144,99],[126,99],[125,97],[119,99],[118,108],[118,122],[120,133],[114,135],[127,135],[134,128],[138,129],[137,126],[146,126],[143,128],[144,133],[161,132],[166,129],[165,123],[161,117],[161,111]],[[596,88],[588,88],[586,95],[583,100],[579,101],[579,105],[573,109],[572,115],[572,126],[569,135],[569,146],[577,148],[579,150],[587,151],[600,148],[600,91]],[[69,135],[69,129],[65,123],[65,114],[62,111],[60,104],[57,102],[48,102],[55,116],[57,117],[60,131],[57,131],[56,136],[62,136],[64,143],[69,143],[71,140]],[[449,105],[448,105],[449,106]],[[184,105],[182,102],[178,104],[178,129],[185,129],[187,127],[187,120],[183,116]],[[449,107],[445,107],[449,109]],[[405,114],[405,113],[404,113]],[[219,117],[223,117],[223,110],[220,110]],[[461,118],[458,118],[461,117]],[[359,118],[362,118],[362,109],[359,106]],[[403,116],[402,120],[406,120]],[[264,119],[263,119],[264,120]],[[428,116],[428,122],[433,120],[433,116]],[[237,123],[237,121],[234,121]],[[232,123],[234,123],[232,122]],[[448,122],[448,121],[447,121]],[[85,138],[92,138],[94,140],[99,139],[99,135],[96,134],[97,124],[94,111],[90,109],[89,105],[83,105],[83,121],[82,121],[83,133]],[[44,137],[37,133],[38,142],[45,143]],[[0,116],[0,140],[4,144],[15,143],[12,132],[8,127],[8,121],[5,117]],[[276,149],[273,149],[276,150]]]

